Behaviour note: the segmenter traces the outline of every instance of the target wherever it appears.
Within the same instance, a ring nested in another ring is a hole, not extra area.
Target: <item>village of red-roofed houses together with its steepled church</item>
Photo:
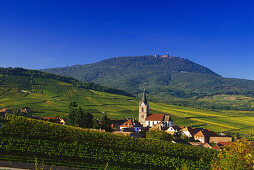
[[[24,116],[30,112],[31,110],[28,107],[23,107],[18,110],[19,116]],[[3,108],[0,110],[0,113],[9,113],[9,110]],[[66,119],[59,117],[28,117],[62,125],[66,124]],[[139,102],[139,120],[133,118],[110,120],[110,128],[113,134],[127,135],[134,138],[145,138],[148,131],[164,131],[173,137],[173,143],[183,143],[216,150],[230,145],[233,139],[229,135],[224,133],[217,134],[209,129],[174,126],[172,118],[167,114],[149,114],[146,90],[144,90],[142,99]],[[101,129],[100,131],[105,132]]]

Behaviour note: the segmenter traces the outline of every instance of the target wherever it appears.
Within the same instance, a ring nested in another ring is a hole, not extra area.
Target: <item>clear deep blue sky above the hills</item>
[[[87,64],[166,53],[254,80],[246,0],[0,0],[0,67]]]

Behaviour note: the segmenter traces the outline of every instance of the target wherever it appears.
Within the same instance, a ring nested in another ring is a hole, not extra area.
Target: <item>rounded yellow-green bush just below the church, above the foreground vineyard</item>
[[[171,142],[173,137],[168,134],[167,132],[165,131],[162,131],[162,130],[149,130],[147,133],[146,133],[146,138],[147,139],[155,139],[155,140],[165,140],[165,141],[168,141],[168,142]]]

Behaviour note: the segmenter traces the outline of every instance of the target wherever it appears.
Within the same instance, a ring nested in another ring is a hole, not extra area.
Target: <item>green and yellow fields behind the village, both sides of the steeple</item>
[[[22,83],[14,83],[17,79]],[[221,100],[225,100],[225,97]],[[76,101],[96,117],[107,114],[111,119],[138,118],[139,99],[132,97],[77,88],[68,83],[44,78],[34,78],[31,81],[25,77],[9,76],[0,86],[0,108],[29,107],[37,116],[65,117],[71,101]],[[149,104],[150,113],[169,114],[175,125],[254,135],[254,112],[251,111],[209,111],[164,103]]]

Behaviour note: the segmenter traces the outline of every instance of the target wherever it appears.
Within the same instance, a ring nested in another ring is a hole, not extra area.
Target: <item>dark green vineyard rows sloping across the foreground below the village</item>
[[[0,157],[51,160],[77,166],[101,165],[126,168],[186,166],[210,169],[214,150],[167,141],[134,139],[88,129],[62,126],[6,114],[0,129]]]

